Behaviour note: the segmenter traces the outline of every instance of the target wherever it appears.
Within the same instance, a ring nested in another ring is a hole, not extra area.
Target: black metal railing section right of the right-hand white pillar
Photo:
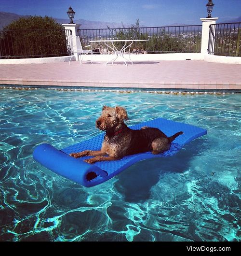
[[[241,57],[241,22],[209,26],[208,53]]]

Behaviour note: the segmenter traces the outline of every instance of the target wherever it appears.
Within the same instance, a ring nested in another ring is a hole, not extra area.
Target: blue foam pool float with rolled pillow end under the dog
[[[33,158],[49,170],[54,171],[55,173],[80,185],[91,187],[113,178],[115,175],[140,160],[154,157],[173,156],[184,144],[207,134],[207,130],[205,129],[165,118],[156,118],[151,121],[142,122],[131,126],[131,128],[137,130],[143,126],[159,128],[168,137],[178,131],[183,131],[184,134],[178,136],[174,142],[172,142],[171,148],[168,151],[159,155],[153,155],[150,152],[146,152],[125,156],[120,160],[96,162],[94,164],[88,164],[83,161],[84,159],[90,158],[90,156],[77,159],[68,156],[70,153],[80,152],[86,149],[100,150],[105,136],[104,133],[101,133],[90,140],[82,141],[61,150],[54,148],[50,144],[40,144],[34,149]]]

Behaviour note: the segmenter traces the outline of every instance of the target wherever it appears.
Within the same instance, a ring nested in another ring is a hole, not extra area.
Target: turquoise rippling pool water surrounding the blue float
[[[92,188],[32,159],[99,133],[103,105],[130,121],[208,130],[175,156],[141,161]],[[0,90],[0,241],[239,241],[241,95]]]

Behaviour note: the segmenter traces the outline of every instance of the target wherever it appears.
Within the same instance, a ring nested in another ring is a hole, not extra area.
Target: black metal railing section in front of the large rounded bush
[[[71,30],[26,29],[0,31],[0,58],[57,57],[69,55]]]

